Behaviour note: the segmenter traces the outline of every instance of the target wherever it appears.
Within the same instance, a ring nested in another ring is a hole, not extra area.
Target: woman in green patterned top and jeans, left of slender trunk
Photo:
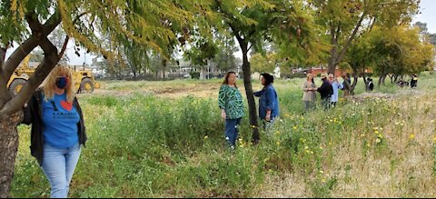
[[[244,115],[243,96],[236,86],[236,73],[229,72],[225,75],[218,95],[218,104],[225,120],[225,140],[234,149],[239,133],[238,126]]]

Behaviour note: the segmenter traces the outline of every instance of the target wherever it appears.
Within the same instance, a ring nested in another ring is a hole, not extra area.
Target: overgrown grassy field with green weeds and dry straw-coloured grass
[[[89,140],[70,196],[436,197],[436,75],[422,74],[417,90],[388,84],[371,95],[361,79],[356,96],[309,114],[304,80],[277,81],[280,120],[253,146],[243,118],[235,153],[223,139],[221,81],[103,82],[79,95]],[[48,197],[29,127],[19,129],[11,194]]]

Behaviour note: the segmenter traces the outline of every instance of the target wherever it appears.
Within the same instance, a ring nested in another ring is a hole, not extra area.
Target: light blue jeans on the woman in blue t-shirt
[[[80,144],[56,148],[44,144],[42,168],[52,186],[52,198],[67,198],[74,169],[80,157]]]

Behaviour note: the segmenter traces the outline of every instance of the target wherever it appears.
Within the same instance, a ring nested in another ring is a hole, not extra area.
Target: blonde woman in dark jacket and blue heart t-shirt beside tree
[[[52,198],[68,196],[86,142],[84,115],[74,94],[71,71],[56,66],[25,105],[23,124],[32,124],[31,153],[52,186]]]

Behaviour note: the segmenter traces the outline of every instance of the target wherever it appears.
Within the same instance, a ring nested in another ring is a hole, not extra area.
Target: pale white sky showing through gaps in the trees
[[[416,15],[413,19],[413,24],[415,22],[426,23],[431,34],[436,34],[436,0],[421,0],[420,5],[421,15]],[[9,50],[9,55],[12,50]],[[70,41],[66,55],[68,55],[70,62],[69,65],[92,65],[94,55],[86,54],[85,50],[80,52],[80,56],[74,54],[74,42]],[[235,52],[236,57],[242,57],[241,51]],[[6,55],[7,56],[7,55]]]

